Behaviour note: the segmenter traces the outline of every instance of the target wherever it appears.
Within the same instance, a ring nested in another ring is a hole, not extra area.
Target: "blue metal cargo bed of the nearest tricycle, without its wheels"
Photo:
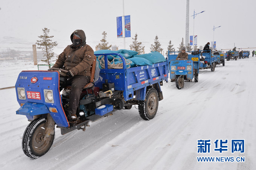
[[[133,99],[134,91],[136,91],[136,100],[144,100],[147,86],[159,83],[160,81],[168,82],[168,62],[155,63],[151,66],[126,68],[125,59],[120,54],[95,55],[104,56],[105,61],[107,61],[107,55],[118,55],[122,59],[122,69],[108,69],[107,62],[105,62],[105,69],[101,69],[100,77],[94,86],[102,89],[102,84],[105,83],[105,80],[108,80],[108,83],[114,83],[114,90],[123,91],[125,101]]]

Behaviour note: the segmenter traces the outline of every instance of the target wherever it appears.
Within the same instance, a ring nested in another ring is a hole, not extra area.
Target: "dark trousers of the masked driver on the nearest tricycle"
[[[69,92],[69,111],[71,114],[76,114],[82,89],[89,82],[90,77],[75,75],[74,77],[68,78],[66,83],[59,87],[59,90],[62,90],[64,87],[71,85],[71,90]]]

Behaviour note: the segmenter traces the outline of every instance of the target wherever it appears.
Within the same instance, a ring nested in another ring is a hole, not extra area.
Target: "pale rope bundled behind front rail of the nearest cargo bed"
[[[112,55],[110,55],[110,56],[113,57],[113,60],[112,61],[108,61],[108,68],[110,68],[110,69],[122,69],[123,68],[122,59],[121,58],[116,58],[116,57],[114,57]],[[99,56],[98,59],[99,59],[99,63],[101,65],[101,67],[103,69],[105,69],[105,59],[104,59],[104,56]],[[120,62],[120,63],[116,63],[115,64],[115,62]],[[132,63],[131,60],[125,59],[126,68],[130,68],[131,67],[131,63]]]

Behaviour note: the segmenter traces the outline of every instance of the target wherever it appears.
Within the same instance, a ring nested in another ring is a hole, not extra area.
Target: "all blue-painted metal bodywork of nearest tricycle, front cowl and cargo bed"
[[[104,55],[107,60],[107,55],[111,54],[96,54]],[[114,54],[121,57],[123,61],[122,69],[108,69],[107,62],[106,69],[101,69],[100,77],[94,84],[95,87],[102,89],[102,84],[105,80],[108,83],[114,83],[114,90],[123,91],[123,99],[128,101],[133,99],[134,91],[136,91],[137,100],[145,100],[146,87],[152,84],[158,84],[160,89],[160,81],[168,82],[168,62],[156,63],[152,66],[138,66],[134,68],[126,68],[125,59],[120,54]],[[36,78],[35,78],[36,77]],[[32,83],[30,80],[37,79],[37,82]],[[56,125],[59,127],[70,127],[67,117],[62,107],[62,98],[59,93],[59,72],[58,71],[22,71],[15,84],[17,101],[21,107],[16,111],[16,114],[26,115],[27,119],[33,120],[35,115],[48,114],[52,116]],[[24,88],[26,99],[21,99],[18,94],[18,89]],[[45,100],[46,92],[44,89],[52,90],[53,103]],[[85,110],[86,106],[79,106],[80,109]],[[57,112],[51,112],[56,109]],[[106,104],[106,108],[99,110],[95,109],[95,114],[103,115],[113,111],[113,105]]]

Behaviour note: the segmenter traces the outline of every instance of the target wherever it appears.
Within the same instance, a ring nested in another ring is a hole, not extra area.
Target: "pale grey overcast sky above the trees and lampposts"
[[[138,41],[149,47],[157,35],[164,51],[169,41],[175,49],[185,42],[186,0],[124,0],[125,15],[131,15],[131,36],[138,34]],[[256,1],[255,0],[190,0],[189,35],[193,35],[195,12],[195,35],[198,46],[214,41],[218,50],[256,47]],[[71,43],[70,35],[82,29],[87,44],[94,50],[107,32],[111,45],[123,48],[123,39],[117,39],[116,17],[123,15],[122,0],[2,0],[0,3],[0,50],[6,47],[6,37],[17,38],[34,44],[43,34],[42,29],[50,29],[53,41],[58,46],[53,50],[61,53]],[[11,39],[11,38],[9,38]],[[130,49],[132,38],[126,38],[126,49]],[[2,48],[1,48],[2,46]],[[9,47],[11,48],[11,47]],[[256,49],[250,49],[256,50]]]

